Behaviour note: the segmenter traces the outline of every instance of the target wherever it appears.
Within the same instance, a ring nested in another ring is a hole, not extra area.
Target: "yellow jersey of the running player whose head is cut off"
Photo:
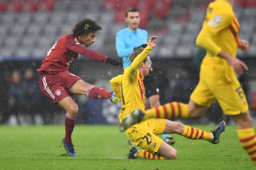
[[[236,57],[239,31],[239,22],[227,1],[216,0],[209,4],[202,29],[196,39],[196,45],[207,51],[201,71],[228,82],[235,78],[236,74],[227,60],[217,55],[224,50]]]

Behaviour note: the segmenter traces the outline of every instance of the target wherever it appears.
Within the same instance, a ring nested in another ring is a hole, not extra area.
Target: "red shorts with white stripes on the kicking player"
[[[65,97],[70,96],[68,89],[78,80],[82,79],[69,71],[63,71],[53,75],[41,74],[40,89],[44,96],[51,99],[53,103],[58,103]]]

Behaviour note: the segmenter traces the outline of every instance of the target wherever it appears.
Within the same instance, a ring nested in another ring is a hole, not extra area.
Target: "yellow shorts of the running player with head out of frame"
[[[210,107],[217,99],[226,115],[238,115],[248,110],[244,90],[235,76],[231,81],[217,79],[200,72],[200,81],[190,96],[196,104]]]

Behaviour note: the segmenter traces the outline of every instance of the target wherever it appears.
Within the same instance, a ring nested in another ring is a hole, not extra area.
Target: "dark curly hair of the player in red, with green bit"
[[[90,32],[98,33],[100,30],[102,30],[102,27],[95,21],[90,18],[84,18],[76,23],[75,27],[73,28],[73,33],[78,36],[82,34],[87,35]]]

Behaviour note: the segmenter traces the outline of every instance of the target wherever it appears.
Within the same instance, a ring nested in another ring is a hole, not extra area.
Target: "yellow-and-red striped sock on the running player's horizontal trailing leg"
[[[148,118],[172,119],[177,117],[188,118],[188,104],[170,102],[156,108],[145,110],[142,120]]]

